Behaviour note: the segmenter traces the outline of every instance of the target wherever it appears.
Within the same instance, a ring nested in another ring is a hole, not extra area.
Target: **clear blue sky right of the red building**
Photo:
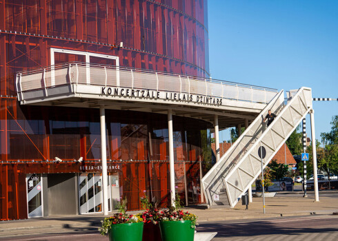
[[[212,78],[338,98],[338,1],[208,0]],[[338,101],[315,101],[315,134],[330,132]],[[310,116],[306,118],[310,137]],[[229,131],[220,138],[229,140]]]

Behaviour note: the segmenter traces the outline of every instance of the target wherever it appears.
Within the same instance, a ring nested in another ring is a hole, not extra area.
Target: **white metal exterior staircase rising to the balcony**
[[[262,119],[268,109],[277,117],[266,127]],[[287,105],[284,105],[284,91],[281,90],[202,178],[208,205],[235,207],[243,193],[261,174],[259,147],[266,150],[266,156],[262,159],[263,167],[266,167],[310,109],[310,88],[301,87],[297,93],[292,92],[288,95]]]

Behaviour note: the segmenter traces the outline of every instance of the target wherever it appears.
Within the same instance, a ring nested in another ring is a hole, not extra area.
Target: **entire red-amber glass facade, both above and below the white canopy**
[[[208,77],[206,12],[206,0],[0,1],[0,220],[28,217],[26,174],[101,166],[99,110],[19,105],[16,73],[50,65],[56,48],[117,56],[125,67]],[[86,59],[55,52],[55,64],[70,61]],[[145,194],[168,205],[167,116],[106,110],[106,129],[108,165],[121,167],[128,209],[139,209]],[[190,191],[200,180],[202,130],[203,121],[174,118],[175,185],[182,200],[184,173]],[[54,163],[55,157],[63,162]],[[75,163],[79,157],[83,162]],[[200,202],[190,195],[190,203]]]

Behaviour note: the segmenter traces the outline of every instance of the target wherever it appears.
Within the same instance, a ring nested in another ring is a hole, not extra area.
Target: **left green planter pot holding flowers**
[[[143,222],[112,224],[110,241],[142,241]]]

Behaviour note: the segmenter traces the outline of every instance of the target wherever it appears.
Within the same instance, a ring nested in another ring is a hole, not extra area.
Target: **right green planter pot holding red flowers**
[[[161,221],[162,241],[194,241],[195,228],[191,228],[191,221]]]

